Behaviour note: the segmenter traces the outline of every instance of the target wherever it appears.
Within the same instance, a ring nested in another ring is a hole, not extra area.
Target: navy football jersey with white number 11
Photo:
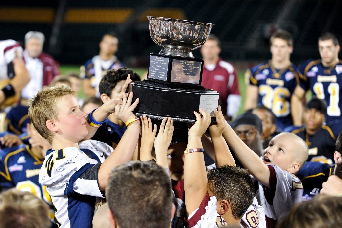
[[[308,60],[299,67],[299,74],[306,79],[306,89],[327,104],[326,122],[340,119],[342,108],[342,61],[330,68],[321,60]]]

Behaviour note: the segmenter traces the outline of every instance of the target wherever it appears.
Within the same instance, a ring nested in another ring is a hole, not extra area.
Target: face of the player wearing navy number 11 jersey
[[[318,50],[324,66],[331,66],[338,59],[340,46],[335,46],[333,40],[318,41]]]

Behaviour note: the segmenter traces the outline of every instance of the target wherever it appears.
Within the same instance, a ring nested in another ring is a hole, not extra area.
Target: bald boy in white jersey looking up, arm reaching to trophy
[[[303,186],[294,174],[308,157],[307,145],[293,133],[280,133],[272,138],[260,160],[228,123],[223,137],[258,182],[256,199],[265,210],[267,227],[274,228],[282,214],[302,201]]]

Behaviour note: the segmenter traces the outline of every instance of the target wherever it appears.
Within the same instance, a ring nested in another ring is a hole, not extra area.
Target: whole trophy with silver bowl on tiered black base
[[[147,79],[132,82],[133,99],[140,99],[135,114],[195,122],[193,111],[204,109],[215,121],[219,94],[201,86],[203,60],[191,52],[204,44],[214,24],[147,18],[153,41],[163,49],[150,54]]]

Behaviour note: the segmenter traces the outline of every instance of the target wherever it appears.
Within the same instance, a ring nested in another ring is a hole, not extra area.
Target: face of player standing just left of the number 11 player
[[[274,38],[271,45],[272,59],[278,62],[290,60],[293,47],[281,38]]]

